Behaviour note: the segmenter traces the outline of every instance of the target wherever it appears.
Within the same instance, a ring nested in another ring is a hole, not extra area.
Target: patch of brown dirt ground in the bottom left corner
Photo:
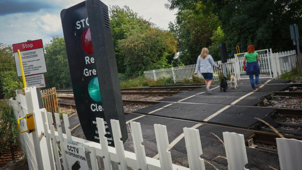
[[[21,149],[13,144],[0,155],[0,170],[28,170],[27,159]]]

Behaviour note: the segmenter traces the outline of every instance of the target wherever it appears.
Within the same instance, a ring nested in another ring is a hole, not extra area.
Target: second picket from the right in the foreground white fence
[[[244,136],[242,134],[223,132],[228,168],[232,170],[248,170]]]

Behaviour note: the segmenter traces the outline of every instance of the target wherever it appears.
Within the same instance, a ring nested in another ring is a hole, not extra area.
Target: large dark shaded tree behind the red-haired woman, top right
[[[169,9],[195,10],[198,3],[206,5],[221,21],[221,29],[225,34],[229,57],[236,53],[236,46],[246,52],[246,47],[253,44],[256,49],[272,48],[274,51],[293,49],[290,39],[290,24],[302,25],[301,0],[168,0]],[[301,34],[301,29],[300,29]]]

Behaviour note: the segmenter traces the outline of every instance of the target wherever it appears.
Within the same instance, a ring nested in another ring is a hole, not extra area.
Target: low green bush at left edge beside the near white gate
[[[18,135],[17,123],[11,107],[5,99],[0,100],[0,154],[14,142]]]

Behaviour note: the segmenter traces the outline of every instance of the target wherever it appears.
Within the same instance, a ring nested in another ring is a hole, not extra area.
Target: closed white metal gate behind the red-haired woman
[[[272,76],[272,67],[271,65],[271,56],[269,55],[268,49],[255,51],[259,54],[259,66],[260,66],[260,74],[259,78],[273,78]],[[249,79],[249,75],[246,75],[246,72],[242,69],[243,68],[243,57],[244,53],[240,53],[240,55],[234,54],[236,58],[236,68],[238,72],[238,79]]]

